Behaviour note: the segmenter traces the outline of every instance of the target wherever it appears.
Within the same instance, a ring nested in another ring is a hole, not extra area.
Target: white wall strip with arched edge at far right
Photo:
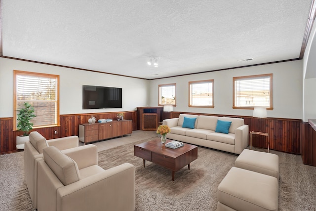
[[[316,24],[303,58],[303,121],[316,119]]]

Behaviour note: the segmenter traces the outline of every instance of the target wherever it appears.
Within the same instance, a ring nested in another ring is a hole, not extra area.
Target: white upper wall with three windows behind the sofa
[[[237,68],[166,79],[150,83],[150,105],[158,105],[158,84],[176,83],[174,111],[252,116],[253,110],[233,109],[233,77],[273,74],[273,107],[268,117],[302,119],[302,60]],[[214,108],[189,108],[189,81],[214,79]]]

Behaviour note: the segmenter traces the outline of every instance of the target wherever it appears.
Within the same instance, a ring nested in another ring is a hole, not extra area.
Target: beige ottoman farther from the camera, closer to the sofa
[[[266,152],[244,149],[235,161],[235,167],[274,176],[278,179],[278,156]]]

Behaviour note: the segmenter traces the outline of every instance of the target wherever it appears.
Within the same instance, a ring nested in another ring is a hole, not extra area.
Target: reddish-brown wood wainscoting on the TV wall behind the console
[[[60,115],[60,127],[34,128],[46,139],[60,138],[71,135],[79,136],[79,125],[88,123],[88,119],[94,116],[98,119],[116,119],[118,113],[124,114],[125,120],[133,121],[133,130],[137,130],[137,111],[108,112],[93,114]],[[57,130],[57,134],[54,131]],[[0,119],[0,154],[16,151],[16,136],[22,135],[21,131],[13,131],[13,118]]]

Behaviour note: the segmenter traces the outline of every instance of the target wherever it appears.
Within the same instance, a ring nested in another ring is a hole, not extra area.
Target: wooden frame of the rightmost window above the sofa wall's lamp
[[[270,87],[269,87],[269,100],[270,100],[270,106],[262,106],[262,105],[255,105],[255,106],[236,106],[235,105],[235,82],[242,79],[258,79],[262,77],[269,77],[270,78]],[[234,77],[233,78],[233,109],[254,109],[254,107],[265,107],[267,110],[273,110],[273,74],[262,74],[262,75],[252,75],[252,76],[240,76],[240,77]]]

